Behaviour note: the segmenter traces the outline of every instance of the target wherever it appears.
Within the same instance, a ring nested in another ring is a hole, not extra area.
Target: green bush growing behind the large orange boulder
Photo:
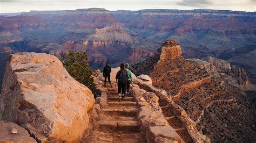
[[[86,52],[75,52],[71,49],[65,58],[60,58],[63,66],[69,74],[78,82],[84,84],[94,94],[96,85],[92,78],[92,70],[89,67],[89,57]]]

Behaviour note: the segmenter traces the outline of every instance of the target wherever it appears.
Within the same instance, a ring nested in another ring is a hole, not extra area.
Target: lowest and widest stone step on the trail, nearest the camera
[[[129,131],[138,132],[139,123],[138,121],[97,121],[100,130],[102,131]]]

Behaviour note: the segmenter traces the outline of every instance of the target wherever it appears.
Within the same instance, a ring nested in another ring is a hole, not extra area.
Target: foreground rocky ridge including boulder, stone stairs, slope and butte
[[[118,70],[112,68],[112,78]],[[99,70],[93,76],[100,92],[93,95],[56,56],[11,54],[0,95],[0,142],[256,140],[255,87],[244,69],[210,56],[184,59],[178,42],[166,40],[131,70],[131,96],[118,101]]]

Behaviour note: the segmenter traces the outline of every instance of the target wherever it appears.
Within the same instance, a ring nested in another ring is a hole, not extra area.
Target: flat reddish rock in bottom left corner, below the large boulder
[[[10,133],[10,130],[16,129],[17,133]],[[5,123],[0,121],[0,142],[37,142],[31,138],[25,128],[18,126],[15,123]]]

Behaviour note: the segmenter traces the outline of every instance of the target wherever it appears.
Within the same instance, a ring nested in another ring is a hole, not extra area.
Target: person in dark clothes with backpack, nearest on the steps
[[[128,71],[124,68],[124,63],[121,63],[120,65],[120,70],[117,72],[116,79],[118,80],[117,82],[117,87],[118,87],[118,98],[119,101],[121,99],[124,99],[125,97],[125,88],[126,88],[126,83],[128,81]],[[122,91],[122,97],[121,97],[121,91]]]

